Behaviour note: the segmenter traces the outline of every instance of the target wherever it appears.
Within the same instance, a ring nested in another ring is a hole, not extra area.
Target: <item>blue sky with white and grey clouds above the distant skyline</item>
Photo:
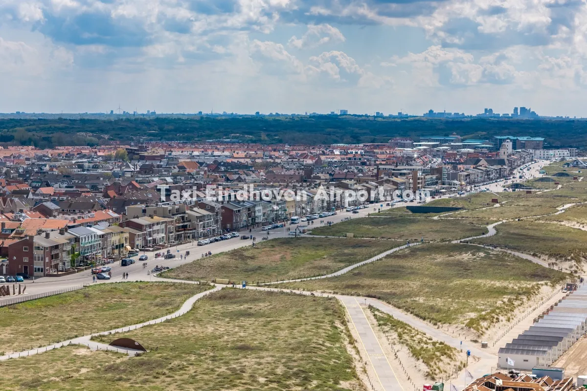
[[[0,0],[0,112],[587,117],[585,0]]]

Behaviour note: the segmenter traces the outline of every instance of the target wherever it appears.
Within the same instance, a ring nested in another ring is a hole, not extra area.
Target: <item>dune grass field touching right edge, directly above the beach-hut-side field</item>
[[[494,236],[475,239],[473,242],[546,256],[552,261],[580,263],[587,257],[587,232],[555,223],[527,220],[506,222],[497,226],[497,234]]]

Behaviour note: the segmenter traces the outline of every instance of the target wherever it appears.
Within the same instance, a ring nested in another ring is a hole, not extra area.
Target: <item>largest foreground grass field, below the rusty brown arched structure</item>
[[[344,324],[334,299],[225,289],[182,317],[112,336],[157,350],[58,349],[2,363],[0,382],[11,391],[363,391]]]

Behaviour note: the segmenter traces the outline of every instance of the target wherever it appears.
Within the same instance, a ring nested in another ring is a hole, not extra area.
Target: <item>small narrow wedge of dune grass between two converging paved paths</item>
[[[459,352],[453,346],[434,341],[419,329],[377,310],[372,305],[369,305],[369,310],[384,334],[390,336],[394,342],[406,346],[416,360],[421,360],[426,365],[427,378],[435,380],[446,377],[455,366],[464,367],[464,362],[458,362]]]

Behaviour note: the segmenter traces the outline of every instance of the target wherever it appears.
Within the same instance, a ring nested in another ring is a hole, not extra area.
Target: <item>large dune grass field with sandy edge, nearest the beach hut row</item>
[[[483,332],[565,273],[467,244],[422,244],[339,277],[279,284],[380,298],[433,323]]]

